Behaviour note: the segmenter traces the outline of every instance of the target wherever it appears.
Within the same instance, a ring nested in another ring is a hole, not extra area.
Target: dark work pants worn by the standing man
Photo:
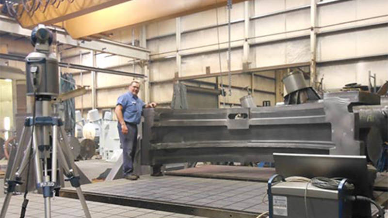
[[[124,175],[129,175],[133,172],[133,160],[137,146],[137,125],[126,123],[128,133],[121,132],[121,125],[118,124],[118,134],[120,137],[121,148],[123,149],[123,170]]]

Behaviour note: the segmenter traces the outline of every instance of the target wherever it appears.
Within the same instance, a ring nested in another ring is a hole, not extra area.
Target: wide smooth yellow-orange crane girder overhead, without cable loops
[[[243,0],[233,0],[233,3]],[[131,0],[63,22],[73,37],[169,19],[226,5],[226,0]],[[139,13],[141,12],[141,13]]]

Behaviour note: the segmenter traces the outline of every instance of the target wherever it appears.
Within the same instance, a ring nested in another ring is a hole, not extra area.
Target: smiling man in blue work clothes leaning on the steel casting
[[[133,80],[129,84],[129,92],[117,99],[116,113],[118,119],[118,132],[123,148],[124,177],[129,180],[137,180],[138,175],[133,173],[133,159],[137,145],[137,125],[140,123],[143,108],[155,108],[156,103],[145,104],[138,96],[140,83]]]

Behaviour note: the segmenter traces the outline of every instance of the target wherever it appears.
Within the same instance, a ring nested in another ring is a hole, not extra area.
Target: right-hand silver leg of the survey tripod
[[[60,130],[61,130],[60,133],[64,140],[64,143],[60,143],[61,147],[58,149],[59,161],[62,164],[61,166],[64,168],[66,176],[70,176],[70,178],[68,179],[70,180],[71,185],[76,188],[78,199],[81,202],[81,206],[85,214],[85,217],[91,218],[88,205],[86,204],[85,197],[82,194],[79,177],[77,178],[78,172],[75,167],[74,156],[71,153],[71,150],[69,147],[69,140],[67,139],[65,128],[63,125],[60,126]],[[67,163],[67,160],[69,161],[69,164]]]

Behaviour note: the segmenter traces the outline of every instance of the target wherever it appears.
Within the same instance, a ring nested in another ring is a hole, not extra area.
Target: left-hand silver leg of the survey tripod
[[[14,160],[14,163],[11,167],[11,173],[9,174],[9,178],[8,178],[8,190],[7,190],[7,195],[5,196],[4,198],[4,202],[3,202],[3,205],[1,207],[1,213],[0,213],[0,218],[5,218],[5,215],[7,213],[7,209],[8,209],[8,206],[9,206],[9,203],[11,201],[11,197],[13,195],[13,192],[15,190],[15,186],[16,186],[16,183],[14,183],[14,180],[16,179],[16,170],[17,170],[17,166],[19,165],[20,163],[20,159],[22,158],[23,156],[23,153],[24,151],[27,149],[28,151],[30,150],[30,148],[27,146],[29,143],[26,143],[26,139],[28,138],[27,136],[29,135],[30,133],[30,126],[24,126],[23,127],[23,130],[22,130],[22,133],[21,133],[21,137],[20,137],[20,140],[19,140],[19,143],[18,143],[18,147],[17,147],[17,150],[16,150],[16,156],[15,156],[15,160]],[[31,138],[30,138],[31,140]],[[27,148],[26,148],[27,147]],[[26,152],[29,154],[29,152]],[[24,157],[23,157],[23,160],[26,158],[26,156],[28,155],[26,154]],[[12,187],[10,187],[12,186]],[[28,188],[28,187],[26,187]]]

